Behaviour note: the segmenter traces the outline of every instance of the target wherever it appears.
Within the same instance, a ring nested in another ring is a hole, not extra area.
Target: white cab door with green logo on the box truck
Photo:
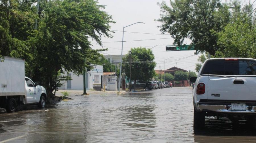
[[[26,80],[26,101],[27,103],[35,103],[36,102],[36,87],[35,84],[30,80],[25,78]]]

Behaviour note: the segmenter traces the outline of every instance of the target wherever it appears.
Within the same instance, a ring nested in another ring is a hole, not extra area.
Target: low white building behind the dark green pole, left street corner
[[[86,90],[93,88],[93,84],[101,84],[101,79],[103,75],[103,66],[101,65],[93,65],[93,69],[86,72],[85,77],[85,85]],[[73,72],[65,72],[65,75],[71,76],[72,80],[63,81],[63,86],[59,87],[59,89],[63,90],[83,90],[84,89],[84,81],[83,75],[75,75]]]

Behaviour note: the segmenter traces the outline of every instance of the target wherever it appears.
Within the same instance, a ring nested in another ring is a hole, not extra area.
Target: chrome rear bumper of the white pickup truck
[[[219,113],[242,113],[242,114],[256,114],[256,106],[246,105],[246,110],[230,110],[231,105],[213,105],[213,104],[197,104],[200,111],[212,111]]]

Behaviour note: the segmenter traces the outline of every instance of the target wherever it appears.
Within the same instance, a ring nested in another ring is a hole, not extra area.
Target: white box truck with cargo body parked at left
[[[47,101],[45,88],[25,77],[23,59],[4,56],[4,62],[0,62],[0,86],[0,107],[7,112],[15,112],[21,104],[44,108]]]

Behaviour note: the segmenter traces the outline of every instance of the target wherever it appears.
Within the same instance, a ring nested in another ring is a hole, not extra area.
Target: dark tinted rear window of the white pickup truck
[[[256,75],[256,62],[251,60],[210,60],[205,63],[202,74]]]

